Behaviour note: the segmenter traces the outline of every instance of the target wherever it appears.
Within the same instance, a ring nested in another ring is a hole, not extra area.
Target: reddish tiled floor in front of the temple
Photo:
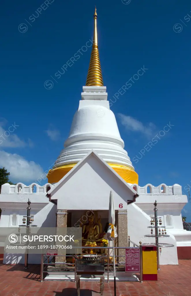
[[[2,261],[0,262],[2,263]],[[77,296],[74,282],[39,281],[40,266],[31,265],[26,271],[22,265],[0,264],[0,295]],[[179,266],[161,266],[158,281],[117,282],[117,296],[185,296],[191,295],[191,260],[179,260]],[[104,296],[114,295],[114,283],[106,283]],[[99,296],[99,284],[81,282],[80,296]]]

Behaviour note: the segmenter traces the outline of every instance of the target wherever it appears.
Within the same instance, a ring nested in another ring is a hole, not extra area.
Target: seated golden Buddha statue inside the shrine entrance
[[[101,217],[98,218],[97,212],[94,212],[88,217],[88,222],[82,225],[82,242],[83,244],[85,244],[87,240],[101,242],[102,239]]]

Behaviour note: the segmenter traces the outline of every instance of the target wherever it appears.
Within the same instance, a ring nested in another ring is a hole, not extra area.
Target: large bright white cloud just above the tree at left
[[[5,167],[10,172],[12,182],[30,182],[42,175],[43,169],[34,161],[28,161],[18,154],[0,151],[0,167]]]

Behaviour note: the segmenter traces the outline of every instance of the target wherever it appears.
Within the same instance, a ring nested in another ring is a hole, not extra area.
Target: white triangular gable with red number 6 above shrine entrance
[[[116,209],[127,209],[137,193],[95,151],[90,151],[49,191],[58,209],[108,209],[113,191]],[[122,204],[122,205],[120,205]]]

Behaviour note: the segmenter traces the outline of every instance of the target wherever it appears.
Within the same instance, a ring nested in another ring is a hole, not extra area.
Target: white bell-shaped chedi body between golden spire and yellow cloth
[[[76,111],[69,137],[53,168],[78,163],[94,149],[107,163],[129,166],[114,113],[109,108],[106,87],[84,86],[82,100]]]

